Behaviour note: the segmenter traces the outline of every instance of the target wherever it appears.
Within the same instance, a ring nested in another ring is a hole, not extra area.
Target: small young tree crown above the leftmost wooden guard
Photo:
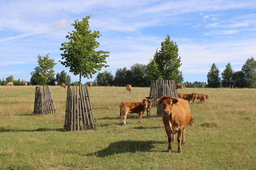
[[[39,85],[46,85],[52,80],[52,77],[54,77],[55,74],[53,68],[57,63],[54,62],[54,59],[49,59],[49,53],[45,57],[38,54],[37,58],[39,66],[37,66],[30,74]]]

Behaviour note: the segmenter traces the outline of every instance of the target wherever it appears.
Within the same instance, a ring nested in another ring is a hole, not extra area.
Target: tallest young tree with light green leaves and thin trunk
[[[80,75],[81,85],[81,76],[92,78],[92,74],[97,73],[101,70],[102,67],[109,67],[103,63],[106,57],[109,57],[109,51],[95,51],[99,47],[96,38],[99,38],[101,35],[99,31],[92,32],[89,27],[88,20],[91,16],[83,18],[82,21],[76,20],[74,26],[76,31],[68,32],[69,35],[68,43],[62,43],[60,50],[64,50],[64,54],[61,54],[62,60],[65,58],[65,61],[60,61],[65,67],[70,68],[70,72],[74,75]],[[103,54],[103,55],[102,55]]]

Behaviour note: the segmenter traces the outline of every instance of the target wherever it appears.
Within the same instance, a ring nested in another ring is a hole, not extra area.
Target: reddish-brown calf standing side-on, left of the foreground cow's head
[[[139,123],[141,121],[141,115],[145,112],[147,108],[147,101],[142,102],[122,102],[120,104],[120,123],[122,124],[122,119],[124,118],[124,125],[126,125],[127,113],[138,113]]]

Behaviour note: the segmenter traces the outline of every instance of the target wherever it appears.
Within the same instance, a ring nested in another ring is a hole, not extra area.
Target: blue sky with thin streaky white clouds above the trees
[[[0,78],[30,81],[37,56],[54,58],[55,73],[65,70],[61,43],[76,19],[90,16],[92,31],[102,35],[97,50],[113,75],[119,68],[147,64],[169,34],[177,43],[184,81],[207,82],[211,65],[220,73],[228,62],[235,71],[256,54],[256,1],[1,1]],[[95,80],[82,78],[82,83]]]

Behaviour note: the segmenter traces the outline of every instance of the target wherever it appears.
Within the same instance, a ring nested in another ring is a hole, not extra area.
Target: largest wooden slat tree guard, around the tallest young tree
[[[64,129],[94,129],[94,116],[87,85],[72,87],[72,90],[68,86]]]

